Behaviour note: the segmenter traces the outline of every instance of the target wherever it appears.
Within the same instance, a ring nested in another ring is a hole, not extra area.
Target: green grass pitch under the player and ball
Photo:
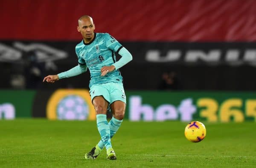
[[[186,140],[186,124],[124,121],[112,139],[117,160],[105,149],[85,160],[100,139],[96,121],[0,120],[0,167],[255,167],[256,123],[204,122],[200,143]]]

